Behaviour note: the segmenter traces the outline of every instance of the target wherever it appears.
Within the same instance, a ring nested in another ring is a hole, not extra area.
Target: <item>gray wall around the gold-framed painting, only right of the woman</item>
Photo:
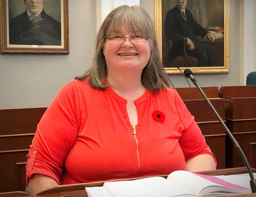
[[[229,7],[230,17],[230,73],[228,74],[196,74],[202,87],[205,86],[239,86],[239,1],[232,0]],[[154,0],[140,0],[140,6],[146,9],[154,19]],[[182,75],[169,75],[175,87],[188,87]],[[190,83],[193,87],[192,82]]]

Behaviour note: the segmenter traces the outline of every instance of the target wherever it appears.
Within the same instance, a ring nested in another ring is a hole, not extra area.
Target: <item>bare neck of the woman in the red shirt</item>
[[[110,87],[123,98],[134,98],[141,96],[145,92],[145,87],[141,83],[141,72],[120,71],[114,72],[108,69],[107,81]]]

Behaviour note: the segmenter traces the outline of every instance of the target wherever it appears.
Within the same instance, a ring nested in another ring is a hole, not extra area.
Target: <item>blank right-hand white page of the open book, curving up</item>
[[[170,173],[167,177],[169,181],[180,185],[183,188],[188,189],[191,193],[199,196],[202,189],[209,186],[219,186],[221,185],[208,181],[200,176],[193,174],[192,172],[187,171],[174,171]]]

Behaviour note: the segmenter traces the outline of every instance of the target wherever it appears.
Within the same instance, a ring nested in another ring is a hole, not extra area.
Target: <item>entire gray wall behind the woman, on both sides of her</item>
[[[154,0],[140,0],[154,19]],[[198,74],[201,86],[239,85],[239,2],[230,1],[230,73]],[[84,73],[96,38],[96,1],[69,1],[69,55],[0,55],[0,109],[48,107],[58,90]],[[182,75],[170,76],[187,87]]]

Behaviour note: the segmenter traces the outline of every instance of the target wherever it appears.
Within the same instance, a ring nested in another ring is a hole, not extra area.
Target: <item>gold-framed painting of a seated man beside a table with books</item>
[[[168,74],[229,72],[229,0],[155,0],[155,26]]]

